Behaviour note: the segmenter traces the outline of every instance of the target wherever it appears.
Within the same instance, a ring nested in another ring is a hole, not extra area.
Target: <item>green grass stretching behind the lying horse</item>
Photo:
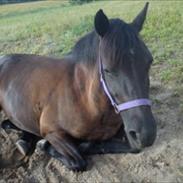
[[[35,53],[61,56],[93,27],[102,8],[113,18],[132,21],[143,1],[97,1],[71,5],[66,1],[40,1],[0,6],[0,54]],[[183,83],[183,3],[150,1],[141,33],[154,56],[152,74],[165,84]]]

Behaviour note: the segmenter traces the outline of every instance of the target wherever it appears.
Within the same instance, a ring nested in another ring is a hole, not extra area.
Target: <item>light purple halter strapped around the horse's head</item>
[[[140,99],[135,99],[129,102],[117,104],[113,97],[110,94],[110,91],[107,87],[107,84],[105,82],[104,76],[103,76],[103,65],[100,57],[100,51],[99,51],[99,74],[100,74],[100,81],[102,83],[103,89],[105,94],[108,96],[109,100],[111,101],[112,106],[114,107],[116,113],[120,113],[121,111],[125,111],[134,107],[138,106],[151,106],[151,100],[147,98],[140,98]]]

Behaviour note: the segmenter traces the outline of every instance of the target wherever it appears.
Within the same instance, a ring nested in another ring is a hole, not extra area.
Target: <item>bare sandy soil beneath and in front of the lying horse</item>
[[[88,170],[74,173],[58,160],[38,149],[19,168],[0,169],[0,183],[5,182],[183,182],[183,109],[173,88],[165,88],[152,79],[153,113],[158,123],[156,142],[140,154],[96,155],[88,157]],[[183,102],[182,102],[183,104]],[[10,137],[10,138],[9,138]],[[14,159],[16,149],[0,131],[0,165]]]

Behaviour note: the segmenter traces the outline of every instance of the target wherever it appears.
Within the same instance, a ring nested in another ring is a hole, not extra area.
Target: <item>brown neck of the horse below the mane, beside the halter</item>
[[[76,91],[85,108],[93,115],[106,111],[109,103],[101,87],[98,64],[90,67],[81,63],[77,64],[74,77]]]

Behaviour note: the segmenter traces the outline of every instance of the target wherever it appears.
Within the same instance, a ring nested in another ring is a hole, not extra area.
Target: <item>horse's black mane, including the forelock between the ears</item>
[[[110,56],[112,57],[111,59],[116,60],[116,62],[119,58],[124,57],[124,55],[130,54],[129,50],[133,48],[138,41],[135,30],[120,19],[110,20],[110,29],[104,36],[104,39],[106,40],[106,47],[108,47],[106,54],[112,53],[111,48],[112,50],[116,50]],[[99,36],[95,30],[93,30],[76,42],[69,56],[71,56],[75,62],[93,65],[97,61],[98,49]]]

